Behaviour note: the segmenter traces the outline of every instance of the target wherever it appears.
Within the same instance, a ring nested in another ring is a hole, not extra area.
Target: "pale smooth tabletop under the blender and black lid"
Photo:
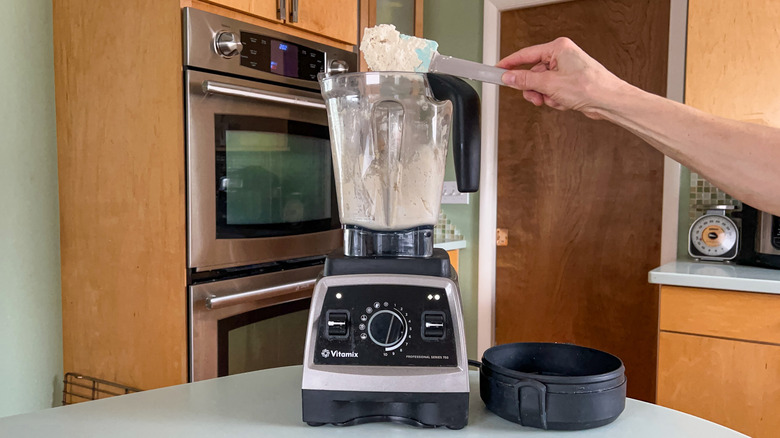
[[[612,424],[579,432],[541,431],[493,415],[470,372],[469,425],[460,431],[391,423],[310,427],[301,421],[300,366],[255,371],[186,385],[0,418],[0,435],[24,437],[742,437],[691,415],[626,400]]]

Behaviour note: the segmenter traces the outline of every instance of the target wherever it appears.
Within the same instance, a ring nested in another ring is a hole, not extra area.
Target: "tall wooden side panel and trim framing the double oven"
[[[142,390],[187,381],[181,8],[354,49],[220,1],[232,9],[53,2],[65,372]],[[353,11],[333,29],[355,29]]]

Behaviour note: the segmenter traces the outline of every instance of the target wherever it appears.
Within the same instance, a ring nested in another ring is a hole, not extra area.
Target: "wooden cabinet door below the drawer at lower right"
[[[775,437],[780,346],[662,331],[656,402],[752,437]]]

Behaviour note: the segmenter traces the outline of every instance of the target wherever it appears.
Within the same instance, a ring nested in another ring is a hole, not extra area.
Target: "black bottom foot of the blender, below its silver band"
[[[309,426],[393,422],[462,429],[469,393],[396,393],[303,390],[303,421]]]

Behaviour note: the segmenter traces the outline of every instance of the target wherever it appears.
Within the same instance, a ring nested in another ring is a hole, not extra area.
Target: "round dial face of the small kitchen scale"
[[[702,259],[730,260],[736,256],[737,226],[726,216],[704,215],[691,225],[689,251]]]

